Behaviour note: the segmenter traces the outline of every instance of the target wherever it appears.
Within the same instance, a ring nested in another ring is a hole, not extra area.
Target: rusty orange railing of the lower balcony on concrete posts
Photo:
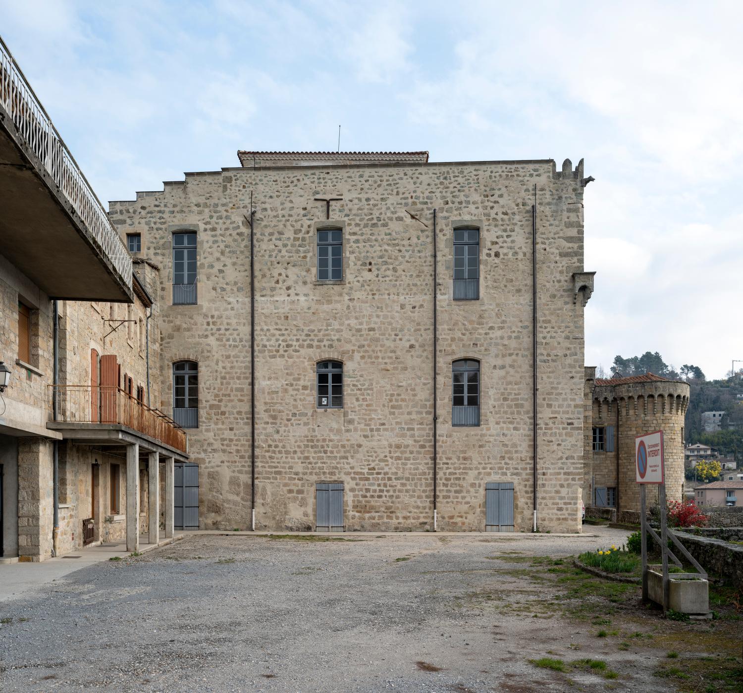
[[[59,420],[120,423],[167,446],[186,452],[186,432],[158,409],[150,409],[121,388],[106,385],[50,385],[56,392]]]

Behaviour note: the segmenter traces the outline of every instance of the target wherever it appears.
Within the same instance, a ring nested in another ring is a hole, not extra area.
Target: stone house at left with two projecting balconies
[[[133,271],[1,41],[0,85],[0,563],[136,550],[141,524],[158,543],[187,455],[184,430],[147,406],[160,399],[157,268]]]

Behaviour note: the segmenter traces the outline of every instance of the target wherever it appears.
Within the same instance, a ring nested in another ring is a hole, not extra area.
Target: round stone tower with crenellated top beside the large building
[[[586,419],[583,500],[588,505],[640,510],[635,482],[635,436],[663,431],[666,498],[681,501],[684,492],[684,414],[689,385],[652,373],[626,378],[597,379],[586,368]],[[586,488],[588,486],[588,488]],[[613,490],[612,490],[613,489]],[[613,504],[612,504],[613,501]],[[658,502],[658,487],[647,489],[647,502]]]

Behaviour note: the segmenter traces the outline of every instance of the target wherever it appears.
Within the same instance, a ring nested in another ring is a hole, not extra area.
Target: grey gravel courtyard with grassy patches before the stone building
[[[687,690],[667,651],[721,657],[733,631],[577,574],[626,539],[587,535],[187,536],[1,603],[0,690]]]

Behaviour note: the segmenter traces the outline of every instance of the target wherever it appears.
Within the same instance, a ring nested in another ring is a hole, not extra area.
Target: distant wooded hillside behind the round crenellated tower
[[[597,377],[629,377],[655,373],[669,380],[684,380],[690,386],[690,402],[684,420],[684,435],[687,445],[704,443],[718,449],[723,457],[734,457],[743,463],[743,400],[736,396],[743,394],[742,374],[733,374],[725,380],[707,380],[704,372],[696,365],[685,363],[678,369],[663,361],[658,351],[646,351],[642,356],[624,358],[614,357],[611,373],[603,368]],[[721,431],[707,433],[701,423],[703,411],[724,411]],[[733,429],[728,430],[728,426]]]

